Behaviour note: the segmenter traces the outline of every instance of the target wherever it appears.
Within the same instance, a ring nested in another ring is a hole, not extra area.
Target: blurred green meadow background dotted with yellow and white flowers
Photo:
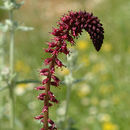
[[[51,39],[49,32],[69,10],[93,12],[105,30],[104,43],[98,53],[85,31],[76,40],[77,67],[82,67],[74,74],[74,78],[86,77],[86,80],[72,88],[69,117],[73,120],[73,127],[77,130],[129,130],[129,0],[25,0],[24,6],[15,11],[14,18],[21,24],[34,27],[34,30],[15,33],[17,80],[41,80],[39,69],[47,57],[43,48],[47,47],[46,42]],[[6,18],[8,13],[0,11],[0,21]],[[6,36],[3,73],[6,73],[9,64],[9,35]],[[62,80],[67,74],[69,70],[66,68],[57,71]],[[38,130],[41,127],[33,119],[42,109],[42,102],[36,98],[38,92],[34,90],[37,85],[22,83],[15,88],[17,130]],[[58,122],[64,116],[66,86],[61,85],[53,91],[60,103],[51,108],[50,116]],[[0,130],[8,130],[8,95],[8,90],[0,92]]]

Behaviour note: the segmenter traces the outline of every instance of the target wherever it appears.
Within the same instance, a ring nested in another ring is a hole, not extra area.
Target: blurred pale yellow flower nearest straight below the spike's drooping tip
[[[105,70],[105,65],[103,63],[95,64],[92,67],[92,72],[93,73],[98,73],[98,72],[104,71],[104,70]]]

